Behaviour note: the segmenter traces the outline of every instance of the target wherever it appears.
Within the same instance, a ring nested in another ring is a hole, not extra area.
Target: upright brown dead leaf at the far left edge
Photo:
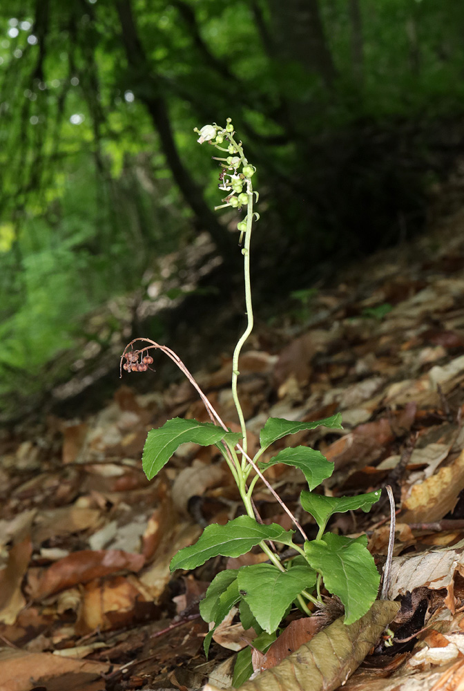
[[[0,571],[0,621],[5,624],[14,624],[19,612],[26,605],[21,593],[21,582],[31,554],[30,536],[26,536],[10,549],[8,563]]]

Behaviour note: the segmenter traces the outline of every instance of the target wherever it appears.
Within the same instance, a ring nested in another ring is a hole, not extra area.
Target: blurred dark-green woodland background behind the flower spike
[[[456,0],[2,0],[1,419],[218,301],[216,255],[220,297],[239,280],[195,126],[231,117],[258,167],[258,302],[423,230],[463,150],[463,35]]]

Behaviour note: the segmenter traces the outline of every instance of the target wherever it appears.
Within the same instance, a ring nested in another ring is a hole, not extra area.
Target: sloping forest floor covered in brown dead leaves
[[[291,445],[318,448],[334,462],[328,495],[394,490],[388,598],[401,603],[394,645],[372,651],[345,684],[351,691],[464,683],[463,268],[461,210],[420,240],[349,267],[278,325],[258,323],[240,360],[249,446],[267,417],[310,421],[340,411],[343,430],[300,432]],[[231,369],[224,358],[218,370],[195,376],[234,430]],[[231,684],[247,632],[226,623],[206,661],[198,601],[238,560],[215,558],[173,574],[169,562],[204,524],[238,515],[238,493],[215,448],[194,444],[146,480],[140,458],[148,430],[172,417],[209,417],[188,381],[140,395],[131,385],[142,376],[156,375],[124,375],[113,401],[93,415],[49,415],[21,433],[3,430],[0,690]],[[304,477],[282,464],[268,472],[313,537],[315,524],[297,507]],[[265,486],[256,504],[265,522],[290,527]],[[339,514],[330,528],[366,531],[381,568],[384,497],[370,513]],[[322,688],[307,683],[307,691]]]

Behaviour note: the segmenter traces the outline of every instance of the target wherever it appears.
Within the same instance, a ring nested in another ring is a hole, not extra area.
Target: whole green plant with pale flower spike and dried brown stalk
[[[206,560],[217,556],[238,557],[259,546],[266,554],[267,562],[240,569],[220,571],[200,602],[200,613],[210,624],[210,631],[204,639],[204,650],[208,654],[215,628],[224,620],[233,607],[238,607],[241,623],[245,630],[253,628],[256,638],[253,646],[267,650],[278,635],[282,619],[292,607],[297,607],[307,616],[311,611],[325,607],[322,587],[340,598],[345,607],[345,624],[363,616],[377,596],[380,576],[374,559],[367,550],[367,537],[348,538],[326,532],[327,522],[334,513],[362,509],[369,511],[380,498],[380,491],[356,497],[330,497],[316,492],[316,487],[334,471],[334,464],[327,461],[320,451],[308,446],[286,447],[272,453],[273,444],[286,435],[301,430],[313,430],[318,426],[341,429],[340,413],[313,422],[271,417],[260,431],[260,448],[251,457],[247,446],[247,428],[238,397],[240,351],[253,329],[253,306],[250,284],[250,246],[253,223],[258,214],[253,211],[253,202],[258,201],[258,192],[253,190],[255,167],[244,155],[242,142],[235,137],[231,119],[226,126],[209,124],[201,130],[198,142],[222,152],[213,156],[220,162],[219,189],[224,193],[222,203],[216,209],[244,209],[244,217],[238,221],[240,245],[244,261],[244,293],[247,312],[247,328],[238,340],[233,353],[231,389],[240,432],[232,432],[204,395],[182,360],[166,345],[151,339],[131,341],[121,358],[121,366],[127,372],[145,372],[153,357],[151,350],[162,350],[184,372],[195,387],[211,418],[211,422],[197,422],[194,419],[175,417],[161,428],[148,433],[144,446],[142,464],[148,480],[163,468],[177,447],[184,442],[202,446],[210,444],[218,448],[237,484],[244,504],[244,515],[230,520],[226,525],[207,526],[200,538],[190,547],[181,549],[171,561],[171,571],[190,570],[201,566]],[[137,349],[135,350],[135,344]],[[266,453],[267,452],[267,453]],[[266,454],[264,456],[264,454]],[[271,466],[283,463],[299,468],[305,476],[308,489],[302,491],[302,509],[311,514],[318,525],[315,540],[309,540],[296,517],[282,502],[267,481],[265,474]],[[295,529],[284,530],[279,524],[265,525],[253,502],[253,491],[261,482],[267,486],[282,509],[289,515]],[[301,540],[296,542],[296,531]],[[291,549],[292,558],[281,558],[282,546]],[[234,685],[246,680],[252,672],[251,648],[242,650],[235,666]]]

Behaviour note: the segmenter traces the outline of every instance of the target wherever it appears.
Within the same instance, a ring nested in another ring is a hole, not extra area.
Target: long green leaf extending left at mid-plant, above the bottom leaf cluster
[[[222,555],[239,557],[258,545],[261,540],[276,540],[289,544],[295,531],[284,531],[277,523],[263,525],[249,516],[239,516],[226,525],[213,523],[206,526],[200,538],[191,547],[184,547],[171,560],[174,569],[196,569],[207,559]]]

